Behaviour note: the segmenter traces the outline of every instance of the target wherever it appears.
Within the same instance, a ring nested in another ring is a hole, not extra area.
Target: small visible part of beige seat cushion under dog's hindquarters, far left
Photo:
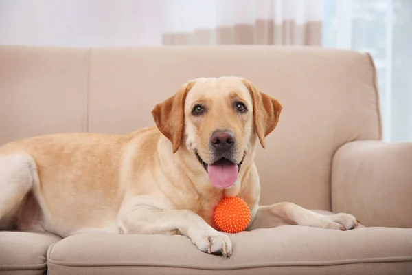
[[[47,248],[59,240],[47,233],[0,231],[0,274],[43,274]]]

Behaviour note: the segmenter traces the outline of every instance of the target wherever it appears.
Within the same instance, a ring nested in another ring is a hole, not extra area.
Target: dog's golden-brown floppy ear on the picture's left
[[[174,96],[157,104],[152,110],[157,128],[172,142],[173,153],[181,144],[185,128],[185,99],[192,86],[192,82],[185,83]]]

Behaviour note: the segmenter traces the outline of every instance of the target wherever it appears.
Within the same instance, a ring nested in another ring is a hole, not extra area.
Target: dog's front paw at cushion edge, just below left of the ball
[[[201,230],[192,236],[192,242],[196,247],[209,254],[230,257],[232,244],[229,236],[216,230]]]

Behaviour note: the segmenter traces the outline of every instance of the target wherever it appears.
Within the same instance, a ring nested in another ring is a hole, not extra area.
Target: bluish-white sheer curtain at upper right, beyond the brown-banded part
[[[323,46],[370,52],[387,141],[412,141],[412,1],[325,0]]]

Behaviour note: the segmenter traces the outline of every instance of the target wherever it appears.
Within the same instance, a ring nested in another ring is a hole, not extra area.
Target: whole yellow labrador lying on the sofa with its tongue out
[[[223,197],[251,209],[253,228],[294,224],[350,230],[350,214],[324,216],[293,203],[259,206],[253,162],[282,106],[237,77],[198,78],[152,111],[157,127],[130,135],[64,133],[0,147],[0,229],[182,234],[231,256],[212,212]]]

